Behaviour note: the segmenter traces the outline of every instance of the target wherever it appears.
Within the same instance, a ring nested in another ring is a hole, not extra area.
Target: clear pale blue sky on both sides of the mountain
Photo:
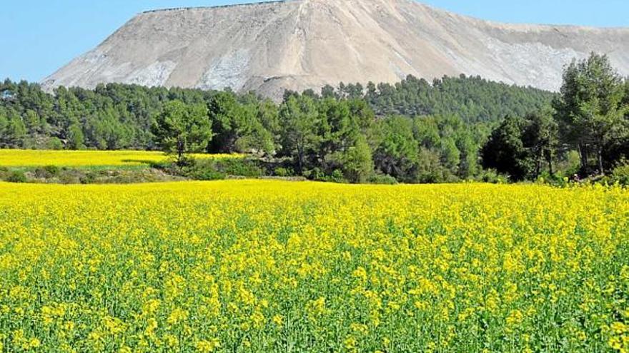
[[[40,81],[97,46],[147,9],[237,4],[236,0],[4,0],[0,5],[0,79]],[[628,0],[423,0],[494,21],[629,26]]]

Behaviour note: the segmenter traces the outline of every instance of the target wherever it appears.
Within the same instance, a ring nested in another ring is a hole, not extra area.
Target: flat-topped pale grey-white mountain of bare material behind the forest
[[[340,82],[480,75],[557,91],[591,51],[629,75],[629,29],[500,24],[413,0],[295,0],[137,15],[43,86],[315,91]]]

